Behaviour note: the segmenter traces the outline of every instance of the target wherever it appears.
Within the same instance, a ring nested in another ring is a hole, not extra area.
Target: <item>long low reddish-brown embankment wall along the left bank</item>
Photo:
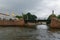
[[[21,25],[23,26],[25,23],[24,23],[24,20],[23,19],[20,19],[20,20],[0,20],[0,25]]]

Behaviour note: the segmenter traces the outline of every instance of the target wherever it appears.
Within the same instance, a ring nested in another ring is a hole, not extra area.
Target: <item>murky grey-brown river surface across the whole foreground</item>
[[[60,40],[59,29],[37,25],[36,29],[24,27],[0,27],[0,40]]]

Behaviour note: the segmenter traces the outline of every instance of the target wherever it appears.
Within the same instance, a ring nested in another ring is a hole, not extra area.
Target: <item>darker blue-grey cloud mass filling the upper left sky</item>
[[[38,2],[39,0],[0,0],[0,4],[3,6],[0,7],[0,12],[15,11],[21,13],[25,10],[34,9]]]

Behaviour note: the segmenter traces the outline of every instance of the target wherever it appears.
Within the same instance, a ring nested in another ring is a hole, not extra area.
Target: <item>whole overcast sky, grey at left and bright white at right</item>
[[[0,12],[16,15],[31,12],[38,17],[48,17],[52,12],[60,14],[60,0],[0,0]]]

